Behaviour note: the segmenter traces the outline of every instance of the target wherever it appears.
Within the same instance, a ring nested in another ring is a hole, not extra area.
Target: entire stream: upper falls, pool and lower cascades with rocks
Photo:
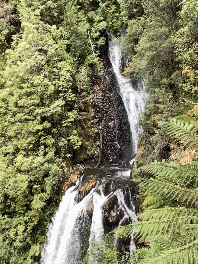
[[[135,155],[142,133],[138,120],[145,107],[144,83],[138,81],[133,85],[129,77],[122,75],[121,49],[111,34],[108,34],[108,40],[108,55],[128,115],[132,135],[131,151]],[[78,264],[93,240],[98,240],[114,227],[136,221],[134,190],[129,181],[130,169],[101,164],[101,171],[89,162],[76,167],[83,169],[84,173],[76,185],[65,192],[53,216],[48,239],[42,250],[41,264]],[[93,175],[96,175],[94,187],[79,199],[80,187]],[[133,254],[133,237],[125,246]]]

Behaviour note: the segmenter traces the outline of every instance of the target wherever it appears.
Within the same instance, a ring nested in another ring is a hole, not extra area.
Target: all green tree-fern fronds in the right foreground
[[[190,121],[184,123],[182,119]],[[164,128],[186,148],[197,144],[196,119],[175,117]],[[176,127],[176,129],[175,129]],[[177,130],[175,132],[175,130]],[[182,132],[181,132],[182,131]],[[189,137],[193,139],[189,141]],[[118,237],[133,235],[147,243],[138,250],[140,263],[196,263],[198,246],[197,156],[191,163],[152,162],[142,167],[150,178],[137,178],[145,196],[139,222],[115,230]],[[149,241],[149,242],[148,242]]]

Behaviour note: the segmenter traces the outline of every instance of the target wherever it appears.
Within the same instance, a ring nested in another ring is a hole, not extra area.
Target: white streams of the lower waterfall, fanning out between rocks
[[[130,208],[126,205],[123,191],[118,189],[108,195],[104,195],[102,184],[93,188],[81,202],[76,202],[79,181],[76,186],[65,192],[58,211],[53,217],[48,230],[48,241],[41,253],[41,264],[78,264],[82,259],[82,247],[88,250],[93,240],[98,240],[104,234],[103,205],[112,197],[118,199],[119,210],[123,211],[123,219],[134,219],[135,212],[133,202],[130,200]],[[91,219],[90,232],[88,232],[89,245],[86,240],[86,218],[87,207],[90,201],[93,202],[94,210]],[[80,237],[82,231],[83,237]]]

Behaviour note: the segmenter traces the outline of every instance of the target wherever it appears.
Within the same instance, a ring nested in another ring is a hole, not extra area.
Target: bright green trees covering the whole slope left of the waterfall
[[[35,264],[60,202],[61,168],[94,152],[90,77],[100,59],[77,1],[12,4],[0,14],[0,263]]]

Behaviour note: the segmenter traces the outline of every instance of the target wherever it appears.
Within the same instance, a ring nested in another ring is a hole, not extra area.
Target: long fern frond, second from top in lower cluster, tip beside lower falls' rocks
[[[189,188],[182,188],[169,182],[149,179],[133,179],[139,183],[140,188],[146,190],[145,195],[159,195],[171,198],[175,201],[186,202],[187,205],[198,206],[198,191]]]

